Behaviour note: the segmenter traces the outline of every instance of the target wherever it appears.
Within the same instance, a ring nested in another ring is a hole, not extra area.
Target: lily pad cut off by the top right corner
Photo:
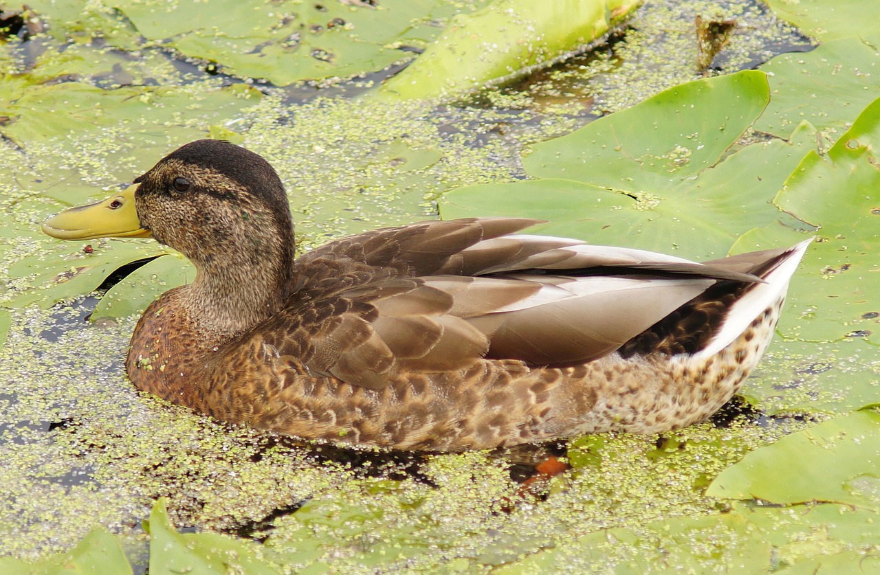
[[[876,33],[880,4],[873,0],[766,0],[774,13],[818,40]]]

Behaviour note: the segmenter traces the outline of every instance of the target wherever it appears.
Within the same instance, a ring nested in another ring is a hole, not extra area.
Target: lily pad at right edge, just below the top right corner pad
[[[783,54],[767,62],[761,70],[769,75],[772,97],[754,128],[784,138],[806,120],[831,135],[832,142],[836,140],[880,92],[878,45],[880,36],[875,33],[834,40],[807,54]]]

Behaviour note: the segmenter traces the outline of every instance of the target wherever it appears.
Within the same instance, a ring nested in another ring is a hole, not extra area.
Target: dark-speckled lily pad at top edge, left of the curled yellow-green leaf
[[[439,24],[484,0],[297,2],[209,0],[69,0],[33,3],[59,37],[92,33],[114,46],[138,41],[171,46],[183,55],[221,64],[235,76],[286,85],[329,76],[354,76],[411,58],[412,48],[441,32]],[[401,50],[406,47],[408,51]]]

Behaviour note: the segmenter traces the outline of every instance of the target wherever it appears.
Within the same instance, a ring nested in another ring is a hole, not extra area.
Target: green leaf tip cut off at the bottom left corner
[[[130,575],[131,566],[119,542],[105,528],[94,528],[75,548],[30,564],[11,557],[0,557],[4,575]]]

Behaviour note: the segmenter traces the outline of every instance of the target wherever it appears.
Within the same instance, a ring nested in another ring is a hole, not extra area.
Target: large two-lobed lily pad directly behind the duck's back
[[[718,257],[779,215],[769,200],[810,146],[804,125],[722,161],[767,100],[754,71],[677,86],[533,146],[523,164],[539,179],[455,190],[441,214],[545,217],[541,233]]]

